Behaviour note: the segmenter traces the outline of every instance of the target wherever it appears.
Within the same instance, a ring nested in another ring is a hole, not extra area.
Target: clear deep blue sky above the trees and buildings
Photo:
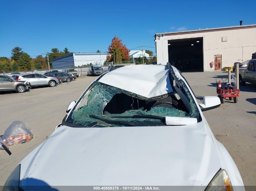
[[[15,46],[30,56],[52,48],[72,52],[108,50],[114,35],[128,49],[148,46],[154,34],[256,24],[254,1],[0,1],[0,57]],[[138,49],[138,48],[137,48]],[[43,55],[45,56],[45,55]]]

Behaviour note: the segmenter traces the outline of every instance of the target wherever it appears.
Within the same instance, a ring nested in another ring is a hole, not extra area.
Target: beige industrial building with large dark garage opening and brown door
[[[256,24],[155,34],[157,63],[181,71],[223,70],[251,59],[256,52]]]

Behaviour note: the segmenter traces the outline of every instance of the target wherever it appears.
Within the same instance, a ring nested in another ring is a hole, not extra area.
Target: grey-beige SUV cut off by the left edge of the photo
[[[17,91],[23,93],[30,89],[30,85],[25,81],[14,81],[8,76],[0,75],[0,91]]]

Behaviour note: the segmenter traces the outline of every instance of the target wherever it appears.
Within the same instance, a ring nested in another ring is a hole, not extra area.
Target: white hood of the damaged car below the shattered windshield
[[[207,186],[221,163],[206,126],[61,126],[21,162],[20,186]]]

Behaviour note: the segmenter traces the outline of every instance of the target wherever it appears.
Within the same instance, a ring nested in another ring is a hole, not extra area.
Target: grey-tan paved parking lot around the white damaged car
[[[227,73],[193,72],[183,75],[198,103],[201,103],[203,96],[216,96],[215,78],[226,77]],[[68,103],[78,100],[95,78],[79,77],[70,83],[53,88],[34,88],[22,94],[0,92],[0,134],[14,120],[28,123],[34,134],[30,142],[11,146],[11,156],[0,150],[0,185],[5,183],[17,164],[55,130],[66,114]],[[240,87],[240,91],[238,103],[227,100],[220,107],[205,111],[204,116],[214,136],[234,159],[244,185],[256,185],[256,87],[246,84]]]

